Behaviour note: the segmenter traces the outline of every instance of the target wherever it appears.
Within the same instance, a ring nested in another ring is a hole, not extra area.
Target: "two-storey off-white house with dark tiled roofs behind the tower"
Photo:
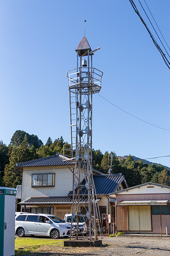
[[[16,167],[23,171],[22,211],[51,213],[60,218],[71,213],[74,163],[69,159],[63,161],[57,153],[17,163]],[[114,215],[115,199],[108,194],[128,187],[124,175],[105,175],[93,170],[93,177],[100,212]]]

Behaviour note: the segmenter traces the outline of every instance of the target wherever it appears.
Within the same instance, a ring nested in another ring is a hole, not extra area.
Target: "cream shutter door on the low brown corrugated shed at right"
[[[129,206],[129,230],[151,231],[151,209],[150,206]]]

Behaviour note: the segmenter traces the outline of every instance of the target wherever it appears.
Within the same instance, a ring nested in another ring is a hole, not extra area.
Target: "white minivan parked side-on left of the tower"
[[[70,236],[71,224],[55,215],[42,213],[18,212],[15,216],[15,233],[19,237],[50,236],[57,239]]]

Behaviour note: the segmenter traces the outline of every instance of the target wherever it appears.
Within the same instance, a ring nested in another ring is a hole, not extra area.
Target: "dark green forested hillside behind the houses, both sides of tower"
[[[22,172],[14,168],[14,164],[34,160],[40,157],[48,157],[59,152],[63,154],[63,145],[67,144],[60,137],[54,142],[49,137],[46,144],[34,134],[28,134],[25,131],[16,131],[7,146],[0,142],[0,186],[16,187],[22,183]],[[103,155],[102,152],[94,150],[93,168],[103,173],[108,173],[108,151]],[[125,175],[129,186],[136,186],[141,183],[154,182],[170,186],[170,171],[160,164],[143,163],[141,159],[135,161],[129,155],[124,158],[118,158],[115,152],[112,152],[112,172]]]

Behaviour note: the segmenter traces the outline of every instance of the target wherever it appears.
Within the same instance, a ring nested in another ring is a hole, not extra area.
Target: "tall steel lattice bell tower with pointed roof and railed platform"
[[[97,48],[98,50],[100,48]],[[92,168],[92,95],[99,93],[103,73],[92,67],[92,51],[86,37],[76,48],[77,68],[69,70],[69,104],[71,120],[71,159],[75,161],[71,239],[78,239],[80,216],[87,222],[91,240],[97,240],[100,232],[99,207]],[[85,60],[87,56],[87,61]],[[87,207],[88,204],[88,207]],[[77,224],[74,217],[77,214]],[[96,221],[97,220],[97,221]],[[101,235],[101,233],[100,233]]]

